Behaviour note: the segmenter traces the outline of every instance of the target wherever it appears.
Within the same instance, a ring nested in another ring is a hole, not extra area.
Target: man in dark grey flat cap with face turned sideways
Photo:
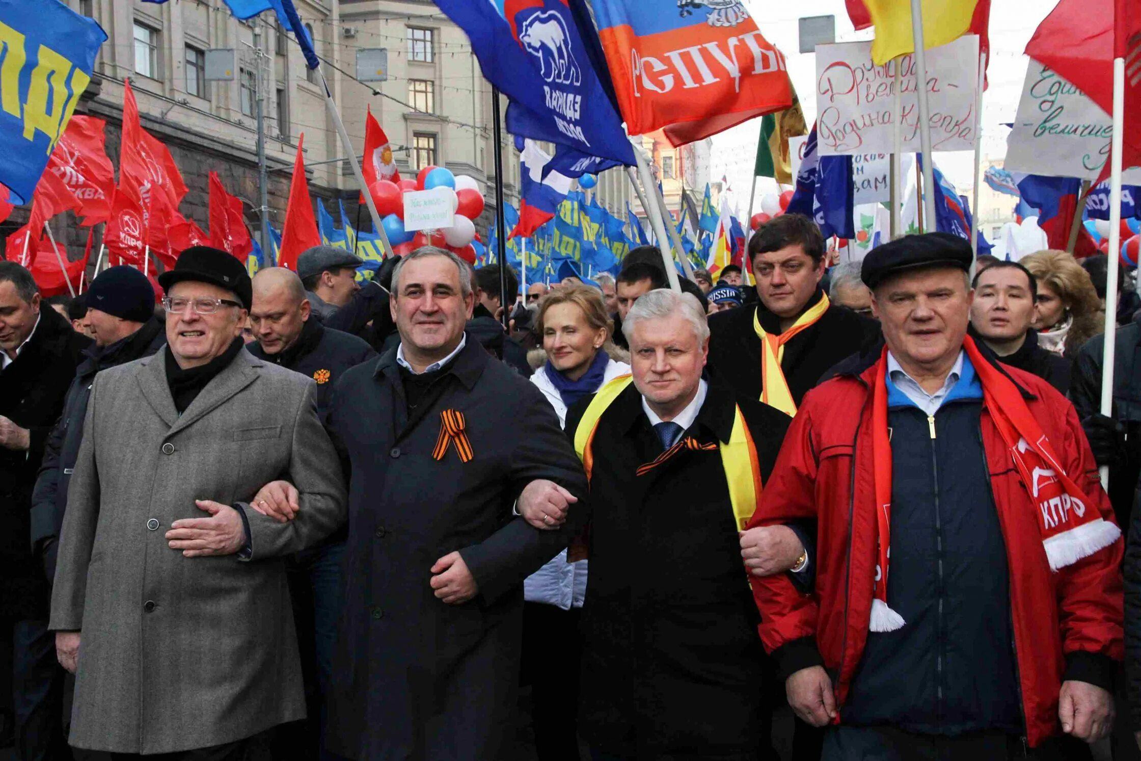
[[[396,325],[389,314],[382,274],[378,272],[373,280],[357,283],[357,267],[363,264],[345,249],[316,245],[297,258],[297,274],[313,313],[325,327],[353,333],[380,351]]]

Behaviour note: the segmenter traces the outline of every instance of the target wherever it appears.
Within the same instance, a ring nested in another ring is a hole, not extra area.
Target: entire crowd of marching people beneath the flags
[[[520,685],[539,761],[1135,758],[1097,261],[782,214],[681,292],[361,264],[0,261],[17,759],[508,760]]]

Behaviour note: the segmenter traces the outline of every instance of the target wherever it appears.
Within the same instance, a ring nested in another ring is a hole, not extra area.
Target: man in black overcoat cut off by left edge
[[[70,758],[63,673],[47,630],[48,582],[32,554],[31,507],[48,435],[90,343],[41,305],[30,272],[0,261],[0,640],[11,638],[16,751],[29,761]]]

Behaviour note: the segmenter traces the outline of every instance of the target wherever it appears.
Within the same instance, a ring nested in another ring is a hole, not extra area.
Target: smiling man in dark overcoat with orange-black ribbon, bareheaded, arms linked
[[[581,528],[586,479],[542,394],[464,334],[459,257],[404,256],[391,293],[399,346],[341,377],[329,418],[350,486],[326,746],[509,758],[523,581]],[[540,531],[516,503],[566,523]]]

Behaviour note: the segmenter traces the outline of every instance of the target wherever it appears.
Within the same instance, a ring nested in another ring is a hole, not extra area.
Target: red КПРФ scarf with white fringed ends
[[[998,435],[1010,451],[1022,484],[1035,505],[1042,547],[1051,570],[1065,568],[1109,547],[1122,535],[1101,518],[1097,507],[1066,473],[1042,427],[1022,398],[1022,392],[1002,371],[990,364],[970,337],[963,349],[982,384],[982,403]],[[888,632],[900,629],[904,618],[888,607],[888,561],[891,557],[891,440],[888,432],[888,350],[875,369],[872,391],[872,459],[875,484],[876,548],[875,589],[868,629]],[[1000,504],[1000,510],[1011,505]]]

